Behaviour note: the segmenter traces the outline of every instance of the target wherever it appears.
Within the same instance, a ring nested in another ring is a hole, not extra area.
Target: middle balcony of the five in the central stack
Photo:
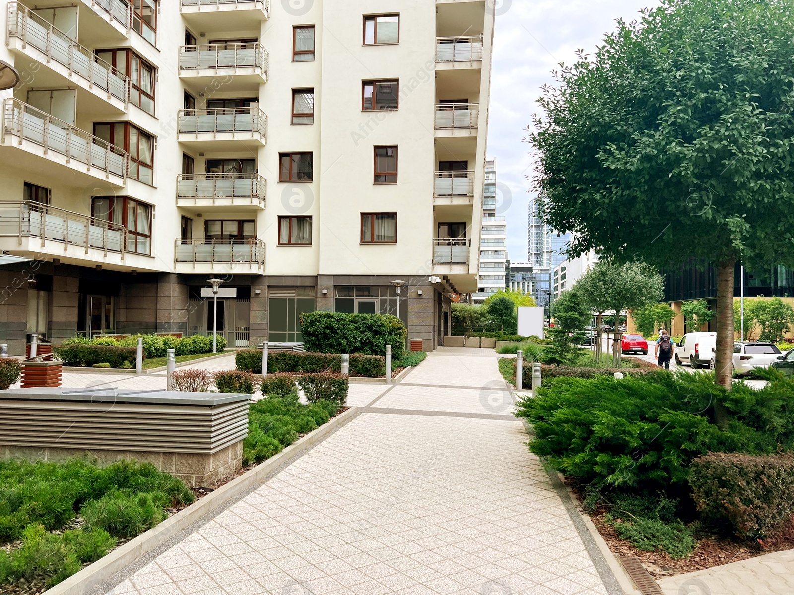
[[[268,117],[258,107],[180,109],[179,142],[211,144],[207,150],[223,151],[264,146]]]

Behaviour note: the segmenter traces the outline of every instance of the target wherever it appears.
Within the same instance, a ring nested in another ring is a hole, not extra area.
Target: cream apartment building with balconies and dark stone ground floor
[[[2,2],[0,340],[301,340],[478,288],[492,11],[467,0]],[[16,260],[18,262],[10,262]],[[3,264],[5,263],[5,264]],[[400,287],[401,283],[404,286]]]

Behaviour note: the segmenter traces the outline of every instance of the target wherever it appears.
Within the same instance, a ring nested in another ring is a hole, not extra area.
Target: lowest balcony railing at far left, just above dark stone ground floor
[[[23,237],[41,238],[62,242],[64,250],[69,246],[96,248],[108,251],[125,252],[126,229],[80,213],[72,213],[40,202],[19,201],[0,202],[0,236],[17,236],[20,244]]]

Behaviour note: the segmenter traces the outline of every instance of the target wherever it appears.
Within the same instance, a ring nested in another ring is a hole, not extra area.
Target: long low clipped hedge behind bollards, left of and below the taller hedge
[[[239,349],[235,355],[237,370],[262,373],[262,351],[260,349]],[[312,351],[270,351],[268,353],[268,374],[278,372],[339,372],[341,355],[316,353]],[[386,358],[381,355],[354,353],[349,358],[349,372],[352,376],[380,378],[386,375]]]

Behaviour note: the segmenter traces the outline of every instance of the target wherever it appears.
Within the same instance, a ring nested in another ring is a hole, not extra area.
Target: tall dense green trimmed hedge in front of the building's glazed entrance
[[[300,316],[303,344],[308,351],[322,353],[364,353],[400,359],[405,351],[408,331],[391,314],[345,314],[305,312]]]

